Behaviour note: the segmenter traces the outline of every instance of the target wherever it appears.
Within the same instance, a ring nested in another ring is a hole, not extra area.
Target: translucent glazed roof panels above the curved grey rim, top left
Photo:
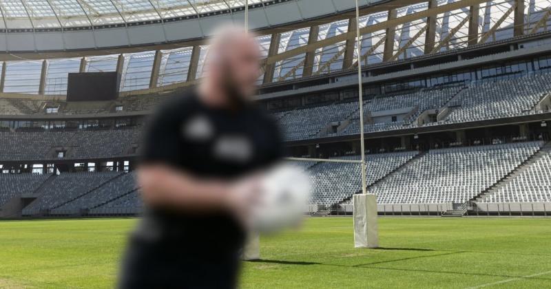
[[[255,5],[269,0],[249,0]],[[245,0],[1,0],[1,28],[112,25],[200,17],[245,7]],[[6,27],[3,27],[6,26]]]

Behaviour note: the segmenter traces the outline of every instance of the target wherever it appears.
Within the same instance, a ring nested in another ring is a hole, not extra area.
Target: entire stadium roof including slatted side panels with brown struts
[[[360,0],[355,19],[353,0],[251,0],[249,28],[258,33],[264,56],[259,83],[356,67],[355,23],[362,63],[377,65],[549,31],[550,1]],[[242,21],[244,5],[0,0],[0,92],[65,94],[71,72],[117,71],[123,91],[193,83],[202,75],[209,32]],[[174,18],[182,13],[191,14]],[[549,39],[547,32],[541,37]]]

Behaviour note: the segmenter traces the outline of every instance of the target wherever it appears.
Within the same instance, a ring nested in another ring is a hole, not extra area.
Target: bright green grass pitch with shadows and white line
[[[354,249],[351,217],[262,237],[242,288],[551,288],[551,219],[380,218]],[[0,288],[112,288],[132,219],[0,222]]]

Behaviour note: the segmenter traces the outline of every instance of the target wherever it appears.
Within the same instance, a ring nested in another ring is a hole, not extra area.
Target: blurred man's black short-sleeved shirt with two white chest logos
[[[281,155],[280,134],[267,114],[252,105],[233,110],[208,107],[190,90],[156,111],[145,134],[142,162],[166,164],[196,178],[233,180]],[[163,208],[147,208],[138,235],[218,255],[234,253],[245,238],[227,213],[198,215]]]

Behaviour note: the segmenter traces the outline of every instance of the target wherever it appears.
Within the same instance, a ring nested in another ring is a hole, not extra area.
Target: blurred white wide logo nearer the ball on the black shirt
[[[214,144],[214,156],[222,160],[247,162],[253,155],[253,147],[245,136],[220,136]]]

